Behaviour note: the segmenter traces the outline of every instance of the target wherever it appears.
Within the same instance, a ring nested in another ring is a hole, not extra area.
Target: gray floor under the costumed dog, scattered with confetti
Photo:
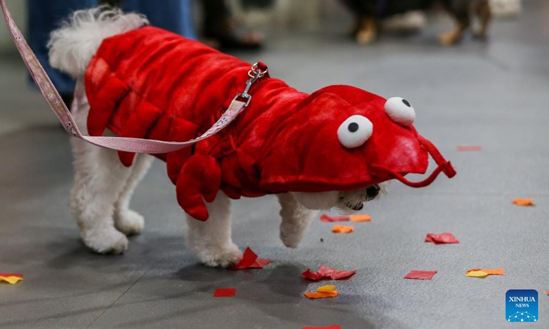
[[[371,47],[341,38],[341,27],[271,36],[265,51],[241,55],[307,92],[352,84],[406,97],[418,130],[458,170],[423,189],[393,182],[366,206],[371,223],[335,235],[316,221],[295,250],[277,239],[273,197],[235,202],[235,242],[274,260],[261,270],[196,263],[161,162],[133,202],[148,220],[145,232],[124,256],[89,252],[67,209],[69,139],[25,85],[21,62],[3,58],[0,272],[25,281],[0,284],[0,328],[512,328],[508,289],[536,289],[539,322],[531,326],[549,328],[549,5],[524,2],[519,20],[493,23],[487,43],[439,47],[436,34],[451,25],[435,20],[422,34],[384,36]],[[513,206],[516,197],[536,206]],[[428,232],[453,232],[461,243],[423,243]],[[340,296],[307,300],[303,291],[320,284],[300,273],[321,264],[358,273],[336,282]],[[502,267],[505,276],[465,278],[476,267]],[[404,280],[412,269],[439,273]],[[213,298],[217,287],[237,295]]]

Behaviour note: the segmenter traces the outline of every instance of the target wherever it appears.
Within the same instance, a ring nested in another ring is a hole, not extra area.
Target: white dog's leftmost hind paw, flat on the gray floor
[[[82,240],[90,249],[100,254],[121,254],[128,249],[126,235],[112,227],[83,234]]]

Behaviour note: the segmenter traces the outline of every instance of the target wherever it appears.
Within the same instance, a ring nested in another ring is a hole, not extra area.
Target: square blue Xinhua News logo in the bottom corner
[[[508,290],[505,315],[507,322],[537,322],[537,291]]]

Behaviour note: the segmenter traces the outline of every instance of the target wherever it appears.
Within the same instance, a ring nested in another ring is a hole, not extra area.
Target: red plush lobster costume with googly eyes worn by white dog
[[[242,90],[249,68],[155,27],[107,38],[86,72],[89,134],[100,136],[108,128],[124,137],[188,141],[222,115]],[[391,119],[388,101],[377,95],[351,86],[307,95],[270,77],[259,79],[249,93],[250,106],[224,130],[193,147],[156,155],[167,164],[180,206],[196,219],[208,218],[205,201],[212,202],[220,190],[238,199],[346,191],[393,178],[419,187],[441,171],[455,175],[411,122]],[[358,123],[347,125],[351,117],[370,126],[369,136]],[[362,144],[355,132],[366,136]],[[425,173],[428,154],[437,169],[423,182],[408,182],[407,173]],[[132,164],[134,154],[119,156],[124,165]]]

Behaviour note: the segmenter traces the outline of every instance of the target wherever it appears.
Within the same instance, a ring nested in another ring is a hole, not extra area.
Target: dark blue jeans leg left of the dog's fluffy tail
[[[46,47],[49,33],[67,19],[71,12],[96,5],[97,0],[27,0],[29,45],[66,103],[73,95],[75,82],[69,75],[52,69],[49,65]]]

